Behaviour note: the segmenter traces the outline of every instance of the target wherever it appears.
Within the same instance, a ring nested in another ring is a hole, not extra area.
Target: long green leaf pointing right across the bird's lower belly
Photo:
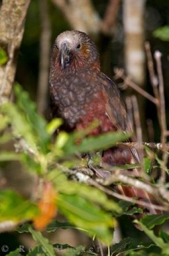
[[[128,137],[129,134],[109,132],[97,137],[84,138],[81,143],[77,144],[76,140],[72,142],[72,137],[70,136],[70,140],[67,141],[63,150],[66,155],[105,150],[117,142],[126,140]]]

